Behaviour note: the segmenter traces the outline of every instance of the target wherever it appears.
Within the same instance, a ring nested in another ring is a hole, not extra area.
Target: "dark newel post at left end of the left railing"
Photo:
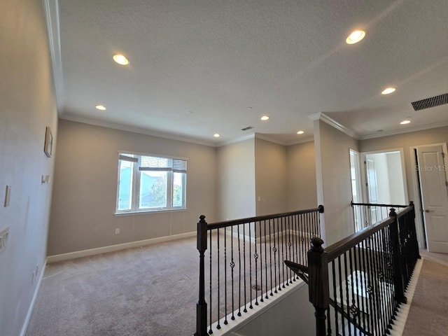
[[[196,304],[195,336],[207,334],[207,302],[205,302],[205,269],[204,253],[207,250],[207,222],[205,216],[199,216],[197,222],[197,251],[199,251],[199,301]]]

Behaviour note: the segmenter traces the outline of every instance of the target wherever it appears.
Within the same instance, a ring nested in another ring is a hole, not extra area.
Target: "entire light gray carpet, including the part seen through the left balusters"
[[[293,257],[279,248],[271,272],[269,266],[274,260],[267,259],[269,254],[266,253],[272,251],[273,242],[257,244],[255,252],[254,244],[246,242],[244,245],[243,241],[228,235],[219,237],[220,261],[216,235],[206,252],[205,297],[212,307],[212,322],[219,317],[224,323],[226,314],[261,295],[255,285],[262,285],[263,296],[269,300],[270,288],[279,288],[279,283],[293,276],[283,264],[284,258]],[[283,244],[286,246],[286,242]],[[299,246],[300,250],[304,249],[301,244]],[[213,264],[219,265],[219,272],[216,267],[212,269],[211,301],[210,271],[207,270],[210,250]],[[244,259],[238,255],[246,258],[245,267]],[[258,255],[258,263],[254,255]],[[233,277],[232,264],[235,265]],[[255,265],[258,272],[255,272]],[[27,336],[191,336],[196,328],[198,280],[199,253],[195,237],[50,264],[45,269]],[[281,295],[281,290],[279,294],[275,292],[274,295]],[[250,310],[250,305],[247,309]]]

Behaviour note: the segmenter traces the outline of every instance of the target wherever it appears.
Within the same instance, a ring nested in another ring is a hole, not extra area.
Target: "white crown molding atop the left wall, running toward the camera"
[[[57,0],[43,0],[42,5],[45,13],[45,22],[47,24],[48,48],[50,49],[57,111],[59,111],[60,116],[64,104],[64,77],[62,74],[61,39],[59,32],[59,6]]]

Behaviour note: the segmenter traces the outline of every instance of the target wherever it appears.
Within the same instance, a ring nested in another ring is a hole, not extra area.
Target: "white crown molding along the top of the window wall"
[[[89,118],[83,118],[80,116],[73,116],[71,114],[64,114],[64,116],[61,116],[60,118],[64,119],[64,120],[74,121],[76,123],[83,123],[83,124],[88,124],[88,125],[112,128],[113,130],[120,130],[120,131],[150,135],[151,137],[158,137],[158,138],[163,138],[163,139],[188,142],[190,144],[197,144],[197,145],[202,145],[202,146],[218,147],[218,144],[215,144],[214,142],[211,142],[211,141],[204,141],[204,140],[200,140],[200,139],[182,137],[179,135],[169,134],[169,133],[155,132],[155,131],[146,130],[141,127],[120,125],[120,124],[116,124],[116,123],[110,123],[109,121],[100,121],[100,120],[94,120],[94,119],[89,119]]]

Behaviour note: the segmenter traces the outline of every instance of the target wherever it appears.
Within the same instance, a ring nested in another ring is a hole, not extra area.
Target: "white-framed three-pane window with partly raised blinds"
[[[119,153],[117,213],[186,208],[187,161]]]

